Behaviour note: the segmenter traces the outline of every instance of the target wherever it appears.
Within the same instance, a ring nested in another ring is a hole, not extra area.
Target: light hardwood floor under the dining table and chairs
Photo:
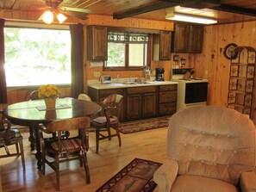
[[[118,146],[117,138],[111,141],[105,139],[100,141],[99,154],[96,154],[95,136],[94,133],[90,133],[88,163],[91,183],[85,183],[84,168],[80,167],[78,162],[63,163],[60,167],[60,191],[93,192],[134,158],[163,163],[166,158],[166,135],[166,127],[140,133],[122,134],[122,147]],[[23,132],[22,136],[26,170],[22,170],[21,158],[1,158],[3,192],[56,191],[55,172],[46,165],[46,175],[41,175],[41,171],[36,168],[34,152],[30,152],[28,132]],[[2,150],[0,149],[1,153]]]

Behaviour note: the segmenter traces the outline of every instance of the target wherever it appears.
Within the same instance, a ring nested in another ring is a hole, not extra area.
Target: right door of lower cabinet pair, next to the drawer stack
[[[143,95],[142,102],[142,117],[152,117],[155,116],[157,112],[156,109],[156,94],[146,93]]]

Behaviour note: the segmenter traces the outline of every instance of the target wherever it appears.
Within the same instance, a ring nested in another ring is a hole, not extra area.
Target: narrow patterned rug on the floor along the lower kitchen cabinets
[[[123,134],[147,131],[154,128],[168,127],[170,117],[160,117],[143,121],[123,122],[119,131]]]

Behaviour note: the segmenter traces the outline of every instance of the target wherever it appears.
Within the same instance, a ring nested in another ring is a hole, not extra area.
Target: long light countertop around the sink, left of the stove
[[[158,85],[167,85],[167,84],[178,84],[174,81],[152,81],[146,82],[144,84],[88,84],[89,87],[97,90],[106,90],[106,89],[117,89],[117,88],[128,88],[128,87],[144,87],[144,86],[158,86]]]

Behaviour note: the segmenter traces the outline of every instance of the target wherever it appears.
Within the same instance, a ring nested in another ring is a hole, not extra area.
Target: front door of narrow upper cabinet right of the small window
[[[172,32],[160,31],[159,33],[159,60],[171,59]]]

